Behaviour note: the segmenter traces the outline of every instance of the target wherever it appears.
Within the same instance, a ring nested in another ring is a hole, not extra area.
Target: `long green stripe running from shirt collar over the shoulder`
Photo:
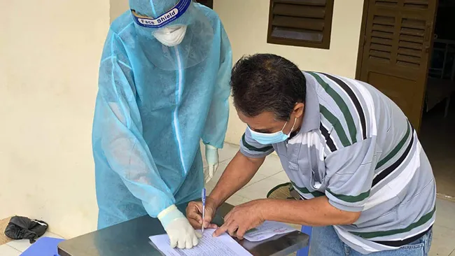
[[[327,94],[329,94],[330,97],[332,97],[332,99],[337,104],[338,108],[342,111],[342,113],[344,115],[344,119],[346,120],[346,125],[348,126],[348,129],[349,129],[349,134],[351,135],[352,144],[356,143],[357,142],[356,124],[354,123],[351,111],[349,111],[349,108],[348,108],[346,102],[344,102],[344,99],[341,96],[339,96],[337,91],[335,91],[332,87],[330,87],[330,85],[328,85],[328,83],[325,83],[325,81],[320,76],[318,76],[318,74],[313,73],[313,72],[308,72],[308,73],[311,76],[313,76],[314,78],[316,78],[318,83],[324,88],[325,92],[327,92]]]

